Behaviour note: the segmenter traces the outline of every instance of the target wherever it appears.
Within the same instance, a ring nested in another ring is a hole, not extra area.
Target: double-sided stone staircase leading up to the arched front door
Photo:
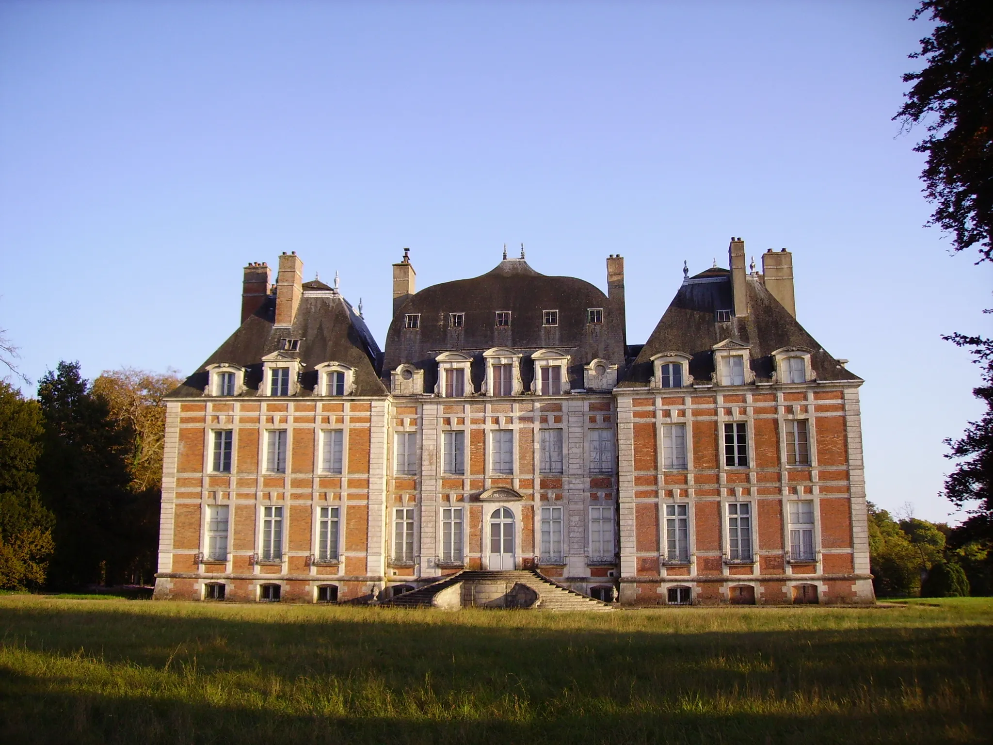
[[[517,608],[541,611],[613,611],[610,603],[570,590],[533,569],[463,570],[382,601],[397,608]]]

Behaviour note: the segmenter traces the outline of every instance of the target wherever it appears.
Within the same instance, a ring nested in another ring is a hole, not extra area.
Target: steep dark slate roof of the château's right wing
[[[752,370],[760,379],[771,377],[775,369],[772,353],[783,347],[811,350],[810,363],[818,380],[862,379],[821,348],[758,277],[749,275],[746,285],[749,314],[736,318],[728,269],[711,267],[684,280],[619,387],[647,385],[651,358],[665,352],[691,355],[689,373],[697,382],[710,382],[714,372],[711,350],[726,339],[751,345]],[[732,320],[718,323],[718,310],[730,310]]]

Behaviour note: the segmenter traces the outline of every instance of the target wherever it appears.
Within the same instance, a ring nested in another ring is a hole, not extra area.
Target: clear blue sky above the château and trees
[[[939,339],[990,333],[993,267],[924,228],[893,2],[4,2],[0,329],[37,380],[195,370],[241,268],[340,272],[383,343],[390,264],[606,289],[628,337],[682,279],[793,251],[801,323],[866,378],[869,498],[944,520],[944,437],[980,407]],[[30,386],[22,386],[30,391]]]

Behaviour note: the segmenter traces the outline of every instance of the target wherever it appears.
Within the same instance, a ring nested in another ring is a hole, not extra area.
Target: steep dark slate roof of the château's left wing
[[[262,359],[279,351],[282,339],[301,340],[299,351],[280,353],[303,365],[298,395],[313,395],[318,384],[315,368],[332,361],[355,369],[354,395],[385,394],[376,372],[381,353],[361,316],[323,282],[315,280],[303,287],[292,327],[274,326],[276,303],[270,296],[170,397],[202,396],[208,382],[207,367],[217,363],[245,368],[245,395],[255,395],[262,380]]]

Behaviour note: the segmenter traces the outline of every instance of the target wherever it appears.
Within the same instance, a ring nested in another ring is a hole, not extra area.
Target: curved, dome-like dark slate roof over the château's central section
[[[603,324],[587,324],[588,308],[602,308]],[[558,326],[543,326],[542,313],[558,311]],[[497,327],[497,311],[510,312],[510,326]],[[418,329],[405,328],[407,314],[420,314]],[[464,313],[461,329],[449,328],[449,314]],[[600,358],[624,368],[622,315],[599,288],[575,277],[548,276],[527,261],[504,259],[486,274],[427,287],[397,309],[386,336],[383,379],[403,363],[424,371],[424,389],[434,388],[435,357],[459,351],[474,358],[476,389],[485,375],[483,352],[506,347],[524,355],[521,378],[527,390],[533,378],[530,353],[557,349],[572,358],[569,377],[583,387],[583,366]]]

